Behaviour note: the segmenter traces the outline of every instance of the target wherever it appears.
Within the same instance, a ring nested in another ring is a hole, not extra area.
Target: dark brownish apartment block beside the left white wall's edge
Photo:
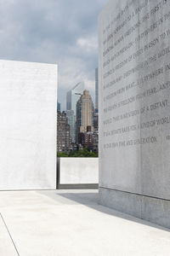
[[[66,113],[57,111],[57,150],[69,152],[71,150],[70,125]]]

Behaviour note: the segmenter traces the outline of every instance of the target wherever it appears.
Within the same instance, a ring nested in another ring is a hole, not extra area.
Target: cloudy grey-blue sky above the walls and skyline
[[[0,0],[0,59],[59,65],[58,99],[79,81],[94,98],[97,18],[108,0]]]

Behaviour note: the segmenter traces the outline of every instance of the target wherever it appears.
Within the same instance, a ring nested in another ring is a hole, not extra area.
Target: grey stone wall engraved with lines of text
[[[116,0],[110,1],[99,15],[102,203],[167,227],[169,12],[169,1]]]

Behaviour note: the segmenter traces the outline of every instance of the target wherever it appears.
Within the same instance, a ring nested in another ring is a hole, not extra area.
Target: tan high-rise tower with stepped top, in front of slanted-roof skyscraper
[[[83,91],[83,95],[77,102],[77,143],[80,143],[79,135],[82,132],[94,131],[94,103],[88,90]]]

